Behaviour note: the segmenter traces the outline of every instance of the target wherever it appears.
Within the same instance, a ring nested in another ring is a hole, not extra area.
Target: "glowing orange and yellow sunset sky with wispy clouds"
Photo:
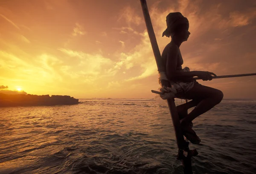
[[[256,73],[255,0],[148,0],[160,52],[166,15],[189,20],[183,66]],[[153,98],[157,66],[139,0],[0,0],[0,85],[76,98]],[[199,81],[256,99],[256,77]]]

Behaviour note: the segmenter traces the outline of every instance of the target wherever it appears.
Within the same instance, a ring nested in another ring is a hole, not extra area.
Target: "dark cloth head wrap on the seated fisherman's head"
[[[180,29],[180,26],[189,27],[189,20],[184,17],[180,12],[169,13],[166,16],[167,29],[163,32],[163,36],[170,37]]]

